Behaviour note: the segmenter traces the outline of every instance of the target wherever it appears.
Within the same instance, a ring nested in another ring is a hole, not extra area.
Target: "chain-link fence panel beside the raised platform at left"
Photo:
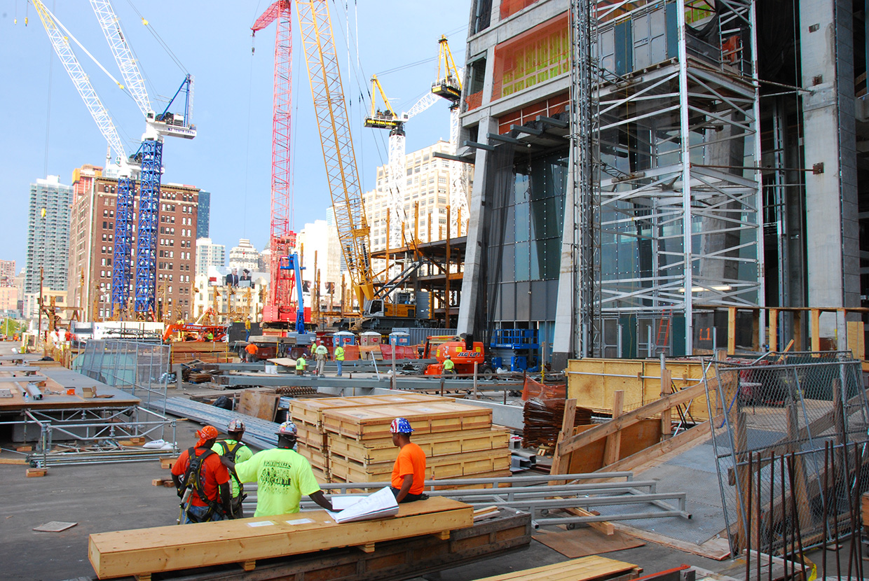
[[[128,340],[89,340],[74,368],[93,380],[143,399],[143,406],[166,411],[169,345]]]

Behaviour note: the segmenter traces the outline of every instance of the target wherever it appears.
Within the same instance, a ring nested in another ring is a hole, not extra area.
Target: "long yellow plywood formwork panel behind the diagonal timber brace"
[[[702,382],[704,364],[700,360],[668,360],[673,391]],[[709,373],[714,375],[710,369]],[[625,393],[625,411],[660,399],[660,361],[622,359],[582,359],[567,361],[567,399],[596,413],[613,413],[613,394]],[[689,411],[696,421],[709,419],[706,397],[693,399]]]

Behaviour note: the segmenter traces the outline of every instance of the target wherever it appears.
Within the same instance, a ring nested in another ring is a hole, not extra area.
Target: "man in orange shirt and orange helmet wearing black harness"
[[[224,520],[232,510],[229,471],[212,448],[217,428],[204,426],[196,432],[196,446],[181,452],[172,465],[172,481],[181,497],[182,524]]]

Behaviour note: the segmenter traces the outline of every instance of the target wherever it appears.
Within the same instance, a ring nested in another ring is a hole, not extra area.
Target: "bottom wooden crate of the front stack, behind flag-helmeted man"
[[[473,474],[509,470],[509,450],[468,452],[426,459],[426,479],[473,478]],[[329,474],[345,482],[381,482],[392,475],[393,462],[362,465],[341,456],[329,455]]]

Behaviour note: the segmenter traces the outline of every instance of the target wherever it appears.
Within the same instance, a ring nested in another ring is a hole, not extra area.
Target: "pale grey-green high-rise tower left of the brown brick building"
[[[72,186],[63,185],[59,176],[49,175],[30,184],[25,293],[40,292],[40,268],[43,287],[53,291],[67,289],[71,205]]]

